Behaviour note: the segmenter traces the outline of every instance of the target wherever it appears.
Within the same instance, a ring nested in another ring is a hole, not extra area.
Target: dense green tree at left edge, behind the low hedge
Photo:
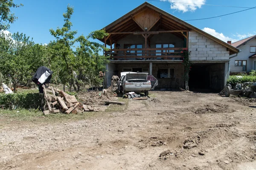
[[[0,35],[0,70],[5,81],[13,83],[14,91],[18,83],[31,78],[27,58],[34,45],[32,40],[19,32]]]

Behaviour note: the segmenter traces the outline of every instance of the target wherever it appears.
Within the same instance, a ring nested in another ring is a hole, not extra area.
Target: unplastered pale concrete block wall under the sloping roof
[[[189,51],[191,60],[229,60],[230,56],[226,47],[195,31],[189,31]]]

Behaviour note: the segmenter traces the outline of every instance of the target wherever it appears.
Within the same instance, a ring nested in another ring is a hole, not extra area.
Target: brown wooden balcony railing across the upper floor
[[[178,55],[183,48],[126,48],[104,51],[110,59],[181,59]],[[132,52],[131,52],[132,51]],[[169,52],[174,51],[174,52]]]

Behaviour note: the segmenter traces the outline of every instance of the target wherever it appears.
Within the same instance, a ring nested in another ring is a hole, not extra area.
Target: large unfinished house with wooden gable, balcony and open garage
[[[184,88],[181,49],[191,51],[189,88],[221,90],[229,76],[230,57],[239,49],[166,11],[143,3],[105,27],[110,57],[105,85],[123,71],[145,72],[159,80],[159,89]]]

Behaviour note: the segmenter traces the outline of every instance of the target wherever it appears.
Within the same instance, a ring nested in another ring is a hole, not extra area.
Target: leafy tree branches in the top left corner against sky
[[[0,0],[0,31],[10,28],[10,23],[14,23],[17,17],[11,12],[10,8],[18,8],[23,4],[15,4],[13,0]]]

